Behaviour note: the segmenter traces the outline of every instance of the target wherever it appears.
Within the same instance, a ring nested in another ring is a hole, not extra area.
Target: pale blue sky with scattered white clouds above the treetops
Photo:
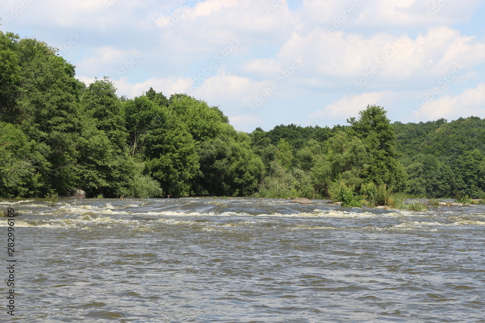
[[[90,84],[218,106],[238,130],[485,118],[485,0],[2,0],[1,31]]]

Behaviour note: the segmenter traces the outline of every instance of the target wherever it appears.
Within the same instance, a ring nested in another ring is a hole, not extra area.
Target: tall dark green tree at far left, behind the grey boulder
[[[50,169],[39,169],[46,190],[67,194],[78,179],[80,82],[74,78],[74,66],[47,44],[26,38],[15,48],[21,70],[15,113],[8,122],[19,124],[29,138],[48,147],[44,156]]]

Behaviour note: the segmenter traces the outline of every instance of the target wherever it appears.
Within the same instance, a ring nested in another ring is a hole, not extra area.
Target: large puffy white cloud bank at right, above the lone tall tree
[[[484,43],[475,36],[462,35],[448,27],[431,28],[415,39],[406,34],[392,36],[387,33],[367,38],[315,28],[307,34],[293,33],[274,59],[255,60],[246,68],[257,69],[267,63],[268,69],[274,69],[282,61],[301,53],[306,61],[303,66],[306,77],[332,77],[338,80],[339,86],[348,86],[373,69],[374,85],[384,88],[391,85],[401,90],[415,87],[417,82],[432,86],[457,62],[467,68],[485,62]]]

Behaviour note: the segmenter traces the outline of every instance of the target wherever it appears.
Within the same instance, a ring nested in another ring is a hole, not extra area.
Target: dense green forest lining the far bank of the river
[[[347,125],[248,134],[187,94],[118,97],[109,78],[75,75],[56,48],[0,31],[1,198],[485,198],[479,117],[391,123],[368,106]]]

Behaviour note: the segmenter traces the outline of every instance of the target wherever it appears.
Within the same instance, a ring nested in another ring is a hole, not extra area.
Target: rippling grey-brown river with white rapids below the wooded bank
[[[315,202],[0,200],[0,322],[485,322],[485,205]]]

